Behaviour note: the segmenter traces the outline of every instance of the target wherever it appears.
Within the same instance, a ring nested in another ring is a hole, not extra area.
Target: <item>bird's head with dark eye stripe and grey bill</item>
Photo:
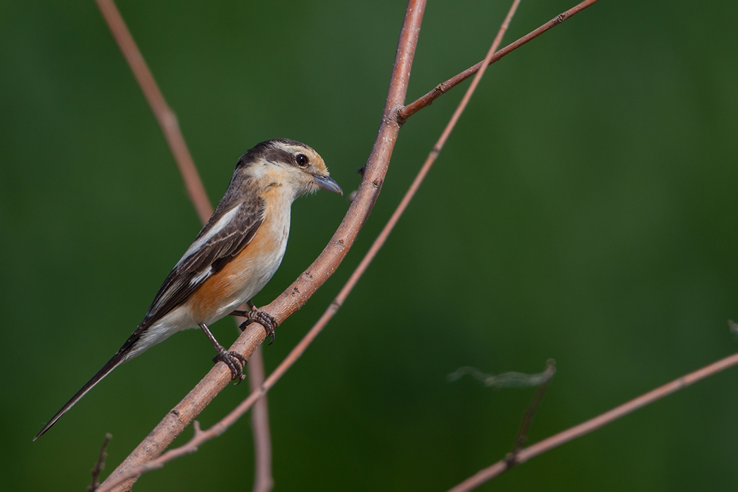
[[[279,188],[294,200],[319,188],[340,193],[343,190],[328,173],[323,158],[303,143],[290,139],[271,139],[255,145],[238,160],[241,178],[254,180],[262,192]],[[236,177],[234,175],[234,178]]]

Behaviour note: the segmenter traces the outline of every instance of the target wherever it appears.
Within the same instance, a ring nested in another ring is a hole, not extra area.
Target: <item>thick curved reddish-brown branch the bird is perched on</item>
[[[404,104],[407,80],[413,64],[415,46],[418,41],[421,21],[425,9],[424,0],[410,0],[400,32],[397,54],[390,79],[390,89],[382,114],[382,124],[370,153],[362,183],[351,203],[342,223],[333,238],[325,246],[317,260],[277,299],[262,309],[283,322],[302,307],[315,291],[334,273],[356,236],[365,224],[371,209],[379,197],[384,176],[399,132],[396,114]],[[261,325],[252,323],[230,347],[244,356],[250,356],[265,338]],[[172,409],[156,428],[137,446],[137,448],[108,477],[100,490],[125,491],[131,487],[135,477],[129,476],[131,468],[159,456],[171,441],[194,420],[196,415],[215,398],[230,381],[230,370],[224,364],[216,364],[190,393]],[[123,480],[120,477],[127,477]],[[115,488],[112,484],[116,483]],[[104,489],[103,489],[104,488]]]

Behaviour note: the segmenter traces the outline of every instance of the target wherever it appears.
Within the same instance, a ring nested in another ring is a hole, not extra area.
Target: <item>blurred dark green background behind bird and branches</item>
[[[573,6],[524,1],[506,43]],[[308,143],[351,192],[371,148],[402,1],[123,1],[213,201],[241,153]],[[483,58],[507,2],[432,1],[408,101]],[[535,442],[736,350],[738,4],[603,0],[492,66],[345,306],[269,393],[275,491],[441,491],[499,460],[532,389],[446,375],[558,373]],[[272,370],[331,302],[463,94],[402,128],[382,195],[334,277],[265,347]],[[270,302],[348,204],[297,201]],[[41,426],[120,347],[199,231],[173,158],[94,2],[0,4],[0,489],[80,491],[212,363],[194,330]],[[215,335],[230,344],[233,322]],[[728,491],[738,370],[480,490]],[[228,387],[207,427],[247,394]],[[183,436],[189,438],[191,429]],[[178,441],[182,442],[182,439]],[[137,491],[249,490],[249,419]]]

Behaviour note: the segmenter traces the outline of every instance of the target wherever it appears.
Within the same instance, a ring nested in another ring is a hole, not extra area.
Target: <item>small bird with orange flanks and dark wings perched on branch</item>
[[[200,328],[232,379],[244,378],[246,358],[226,350],[208,325],[234,314],[259,322],[274,341],[276,320],[252,302],[279,268],[289,236],[292,202],[323,189],[343,195],[323,158],[301,142],[271,139],[238,159],[213,215],[174,266],[143,321],[120,350],[38,432],[37,440],[116,367],[187,328]],[[244,303],[250,311],[239,311]]]

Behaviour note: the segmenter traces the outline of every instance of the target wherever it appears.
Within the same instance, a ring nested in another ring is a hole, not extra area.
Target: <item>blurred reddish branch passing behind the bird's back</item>
[[[125,60],[128,61],[128,66],[131,67],[131,72],[134,73],[151,111],[159,122],[160,128],[162,128],[187,189],[187,195],[189,195],[200,221],[205,224],[210,215],[213,215],[213,206],[210,204],[210,199],[207,198],[207,192],[190,151],[187,150],[176,117],[164,100],[154,75],[148,69],[113,0],[97,0],[97,5],[100,7],[103,18],[108,23],[108,28],[111,30],[120,51],[123,53]],[[245,309],[245,306],[241,306],[239,309]],[[236,318],[236,326],[238,327],[244,321],[245,319]],[[251,364],[249,364],[249,386],[251,389],[258,388],[261,386],[263,379],[263,358],[261,353],[256,353]],[[254,491],[267,492],[271,490],[273,480],[272,443],[269,436],[269,413],[266,398],[262,398],[256,403],[256,408],[252,413],[252,429],[255,449]]]

